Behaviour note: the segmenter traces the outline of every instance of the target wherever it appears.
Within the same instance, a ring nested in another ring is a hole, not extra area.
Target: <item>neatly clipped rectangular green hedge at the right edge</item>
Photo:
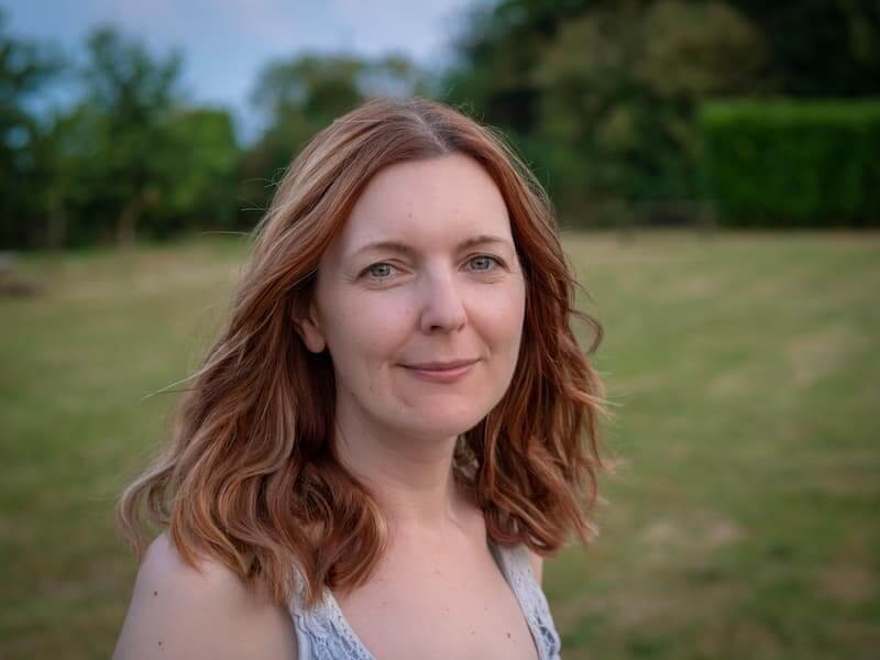
[[[880,101],[713,101],[700,125],[722,223],[880,226]]]

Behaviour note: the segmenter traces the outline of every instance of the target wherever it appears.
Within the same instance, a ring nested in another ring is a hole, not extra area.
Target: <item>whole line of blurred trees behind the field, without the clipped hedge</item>
[[[242,146],[228,110],[183,92],[179,53],[103,26],[70,57],[0,11],[0,249],[249,229],[302,144],[372,96],[433,96],[501,129],[563,222],[696,199],[706,101],[880,92],[880,4],[475,0],[455,53],[442,72],[394,53],[267,63]],[[59,81],[77,86],[67,106],[35,102]]]

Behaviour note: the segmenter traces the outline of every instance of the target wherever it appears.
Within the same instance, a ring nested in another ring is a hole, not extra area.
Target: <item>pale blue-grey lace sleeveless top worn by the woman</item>
[[[490,544],[490,549],[526,617],[539,660],[559,660],[559,634],[541,585],[532,575],[527,548]],[[329,588],[316,607],[306,609],[300,606],[299,586],[289,603],[299,660],[376,660],[349,626]]]

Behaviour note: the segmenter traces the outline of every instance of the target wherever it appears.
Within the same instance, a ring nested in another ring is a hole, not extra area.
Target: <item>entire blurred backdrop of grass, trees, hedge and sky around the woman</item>
[[[0,0],[0,658],[111,653],[160,391],[301,145],[409,95],[504,132],[605,329],[563,657],[877,658],[875,0]]]

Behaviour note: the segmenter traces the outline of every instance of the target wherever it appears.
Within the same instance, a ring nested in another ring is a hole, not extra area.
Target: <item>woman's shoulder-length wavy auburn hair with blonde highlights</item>
[[[118,513],[135,552],[146,520],[166,527],[193,566],[208,557],[286,602],[324,586],[363,584],[387,544],[385,518],[346,472],[333,441],[336,382],[324,351],[294,329],[306,315],[318,262],[371,178],[394,163],[465,154],[504,197],[526,278],[518,363],[504,398],[459,437],[455,481],[483,512],[490,539],[546,556],[574,532],[597,534],[597,418],[604,388],[579,348],[571,317],[579,287],[551,205],[493,131],[438,102],[369,101],[318,133],[290,164],[255,230],[230,318],[193,375],[170,442],[123,493]],[[584,441],[584,431],[586,435]],[[144,517],[146,520],[144,520]]]

